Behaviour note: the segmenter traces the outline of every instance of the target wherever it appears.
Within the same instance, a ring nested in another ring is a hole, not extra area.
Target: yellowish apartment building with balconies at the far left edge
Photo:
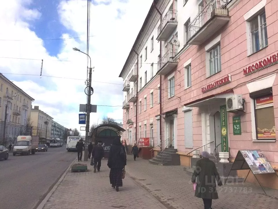
[[[28,132],[33,101],[31,96],[0,73],[0,141],[3,141],[4,128],[3,143],[6,145],[14,143],[18,135]],[[5,112],[6,127],[4,127]]]

